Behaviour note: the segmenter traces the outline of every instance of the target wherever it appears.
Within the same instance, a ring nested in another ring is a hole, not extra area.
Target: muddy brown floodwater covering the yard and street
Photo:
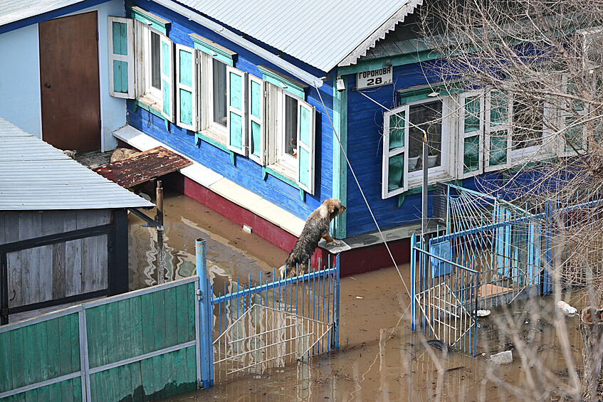
[[[249,275],[257,281],[260,270],[271,273],[287,257],[185,196],[167,193],[164,209],[169,280],[194,275],[196,238],[206,239],[208,275],[215,288],[237,277],[242,284]],[[130,216],[131,290],[157,280],[155,233],[143,223]],[[408,285],[409,266],[399,270]],[[426,338],[410,328],[409,296],[393,266],[342,278],[340,286],[339,351],[216,381],[209,389],[169,401],[557,401],[555,391],[575,385],[572,370],[579,371],[582,362],[578,319],[552,319],[557,314],[552,297],[536,298],[538,309],[534,300],[491,309],[479,321],[481,347],[474,358],[425,346]],[[580,294],[564,299],[582,307]],[[528,313],[535,310],[538,314]],[[490,354],[504,350],[512,350],[512,364],[488,361]]]

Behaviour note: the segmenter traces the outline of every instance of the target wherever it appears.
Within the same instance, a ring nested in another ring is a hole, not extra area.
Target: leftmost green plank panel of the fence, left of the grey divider
[[[80,371],[78,313],[0,333],[0,393]],[[79,376],[0,401],[81,401]]]

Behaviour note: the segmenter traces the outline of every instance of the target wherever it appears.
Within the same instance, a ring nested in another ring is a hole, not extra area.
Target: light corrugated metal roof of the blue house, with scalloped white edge
[[[421,1],[179,0],[323,71],[356,63]]]

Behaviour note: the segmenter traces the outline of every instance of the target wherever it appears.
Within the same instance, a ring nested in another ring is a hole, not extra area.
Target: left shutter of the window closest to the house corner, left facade
[[[249,157],[261,164],[266,165],[266,136],[264,135],[266,97],[264,93],[266,88],[263,80],[249,74],[248,75],[248,144]]]

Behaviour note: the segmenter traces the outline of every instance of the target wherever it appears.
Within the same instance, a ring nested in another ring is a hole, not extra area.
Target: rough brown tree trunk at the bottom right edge
[[[580,313],[582,334],[582,397],[584,401],[603,401],[603,308],[585,307]]]

